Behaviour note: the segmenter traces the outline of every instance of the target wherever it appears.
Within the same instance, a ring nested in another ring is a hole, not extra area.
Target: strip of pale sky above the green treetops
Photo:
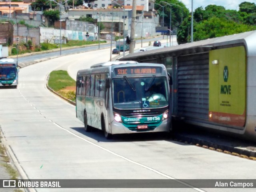
[[[186,5],[186,7],[191,11],[192,0],[180,0]],[[242,2],[251,2],[256,4],[256,0],[193,0],[193,10],[202,6],[205,8],[210,4],[215,4],[219,6],[224,6],[226,9],[238,10],[239,4]]]

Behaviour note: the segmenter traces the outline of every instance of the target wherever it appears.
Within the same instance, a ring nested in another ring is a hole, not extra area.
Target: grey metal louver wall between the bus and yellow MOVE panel
[[[178,116],[208,119],[209,54],[178,57]]]

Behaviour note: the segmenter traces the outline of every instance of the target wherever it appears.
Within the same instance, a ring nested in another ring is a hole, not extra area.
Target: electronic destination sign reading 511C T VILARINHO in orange
[[[116,75],[156,75],[162,74],[161,67],[120,67],[115,68]]]

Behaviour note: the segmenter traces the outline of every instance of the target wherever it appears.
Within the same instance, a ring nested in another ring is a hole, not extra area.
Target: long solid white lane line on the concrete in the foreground
[[[115,152],[112,152],[112,151],[110,151],[110,150],[108,150],[108,149],[102,147],[102,146],[99,146],[99,145],[97,145],[97,144],[95,144],[95,143],[93,143],[93,142],[90,142],[89,140],[86,140],[85,138],[82,138],[82,137],[80,137],[80,136],[78,136],[78,135],[72,133],[71,131],[66,130],[65,128],[63,128],[62,126],[60,126],[60,125],[58,125],[58,124],[56,124],[56,123],[53,123],[53,124],[55,124],[56,126],[58,126],[58,127],[61,128],[61,129],[65,130],[66,132],[68,132],[68,133],[70,133],[70,134],[76,136],[77,138],[80,138],[80,139],[84,140],[85,142],[88,142],[88,143],[90,143],[90,144],[92,144],[92,145],[94,145],[94,146],[96,146],[96,147],[98,147],[98,148],[100,148],[100,149],[102,149],[102,150],[104,150],[104,151],[106,151],[106,152],[109,152],[109,153],[111,153],[111,154],[113,154],[113,155],[115,155],[115,156],[118,156],[118,157],[120,157],[120,158],[122,158],[122,159],[124,159],[124,160],[126,160],[126,161],[128,161],[128,162],[131,162],[131,163],[136,164],[136,165],[138,165],[138,166],[144,167],[144,168],[146,168],[146,169],[148,169],[148,170],[151,170],[151,171],[153,171],[153,172],[155,172],[155,173],[157,173],[157,174],[159,174],[159,175],[161,175],[161,176],[164,176],[164,177],[166,177],[166,178],[168,178],[168,179],[173,179],[173,180],[175,180],[176,182],[178,182],[178,183],[180,183],[180,184],[183,184],[183,185],[185,185],[185,186],[188,186],[189,188],[193,188],[193,189],[196,190],[196,191],[205,192],[205,191],[202,190],[202,189],[195,188],[194,186],[192,186],[192,185],[190,185],[190,184],[187,184],[187,183],[185,183],[185,182],[182,182],[182,181],[180,181],[180,180],[178,180],[178,179],[176,179],[176,178],[174,178],[174,177],[168,176],[168,175],[166,175],[166,174],[164,174],[164,173],[162,173],[162,172],[160,172],[160,171],[158,171],[158,170],[155,170],[155,169],[150,168],[150,167],[148,167],[148,166],[146,166],[146,165],[143,165],[143,164],[140,164],[140,163],[135,162],[135,161],[133,161],[133,160],[130,160],[130,159],[128,159],[128,158],[126,158],[126,157],[124,157],[124,156],[122,156],[122,155],[119,155],[119,154],[117,154],[117,153],[115,153]]]

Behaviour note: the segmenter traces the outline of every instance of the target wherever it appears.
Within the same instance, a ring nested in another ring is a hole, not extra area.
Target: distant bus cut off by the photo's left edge
[[[17,88],[18,86],[18,72],[14,59],[3,58],[0,60],[0,86],[11,86]]]

